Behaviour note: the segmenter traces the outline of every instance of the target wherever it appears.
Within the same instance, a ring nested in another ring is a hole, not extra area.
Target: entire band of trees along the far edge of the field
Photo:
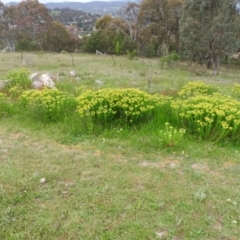
[[[237,0],[141,0],[129,2],[119,17],[104,15],[90,36],[52,19],[37,0],[16,6],[0,3],[1,44],[11,50],[114,54],[137,52],[146,57],[178,53],[182,58],[218,68],[240,49]]]

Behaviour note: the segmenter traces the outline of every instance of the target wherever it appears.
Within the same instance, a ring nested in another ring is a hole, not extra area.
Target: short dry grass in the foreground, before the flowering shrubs
[[[240,233],[238,158],[212,169],[209,159],[129,151],[98,138],[64,145],[4,127],[0,135],[3,239],[236,239]]]

